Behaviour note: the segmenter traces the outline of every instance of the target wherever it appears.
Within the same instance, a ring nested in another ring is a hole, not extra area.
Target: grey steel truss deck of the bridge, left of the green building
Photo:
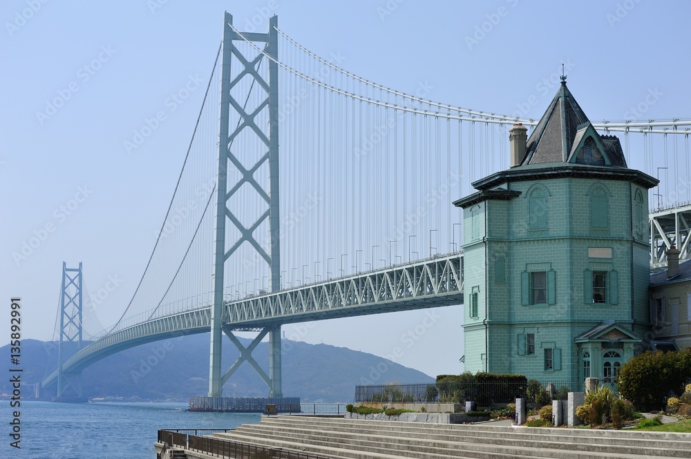
[[[463,254],[433,258],[341,277],[278,293],[225,304],[224,331],[265,331],[272,324],[325,320],[463,303]],[[234,315],[236,319],[234,319]],[[245,318],[240,320],[240,317]],[[145,342],[207,333],[211,306],[155,318],[89,344],[64,363],[64,371],[77,372],[122,349]],[[276,353],[280,347],[276,344]],[[274,375],[274,380],[277,375]],[[42,382],[55,383],[57,370]]]

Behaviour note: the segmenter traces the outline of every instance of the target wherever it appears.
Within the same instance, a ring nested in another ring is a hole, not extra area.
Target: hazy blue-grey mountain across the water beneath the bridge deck
[[[251,340],[240,338],[244,346]],[[21,342],[24,384],[44,378],[57,365],[57,343]],[[10,346],[0,359],[10,360]],[[224,339],[223,370],[238,358],[238,350]],[[268,343],[258,344],[252,356],[269,373]],[[150,400],[206,395],[209,388],[209,333],[143,344],[96,362],[82,373],[84,396],[133,396]],[[283,340],[283,395],[311,402],[352,402],[358,384],[433,382],[430,376],[376,355],[328,344]],[[8,382],[0,391],[10,393]],[[223,387],[227,397],[265,397],[268,388],[249,363],[243,363]]]

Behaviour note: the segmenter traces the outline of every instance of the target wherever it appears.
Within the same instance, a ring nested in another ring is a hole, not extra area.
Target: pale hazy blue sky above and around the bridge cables
[[[404,92],[424,81],[427,97],[457,106],[538,118],[565,62],[591,121],[691,116],[688,1],[6,0],[0,285],[2,301],[23,299],[24,338],[51,338],[63,261],[84,262],[93,291],[117,281],[104,322],[129,300],[203,91],[175,110],[166,101],[190,75],[208,78],[224,10],[240,30],[265,31],[278,14],[281,29],[317,55],[341,55],[344,68]],[[64,104],[48,110],[56,97]],[[128,155],[123,142],[162,107],[166,121]],[[461,315],[450,307],[285,331],[382,356],[399,347],[399,363],[435,375],[462,371]],[[404,338],[421,324],[416,340]],[[0,344],[9,341],[4,330]]]

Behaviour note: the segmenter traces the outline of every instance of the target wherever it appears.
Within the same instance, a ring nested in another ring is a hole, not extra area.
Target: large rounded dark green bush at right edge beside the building
[[[621,367],[618,391],[636,407],[661,409],[668,393],[681,394],[691,377],[691,348],[676,352],[648,351]]]

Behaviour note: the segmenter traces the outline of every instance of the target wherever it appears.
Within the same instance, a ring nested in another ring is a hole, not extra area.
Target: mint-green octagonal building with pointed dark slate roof
[[[565,78],[564,78],[565,79]],[[455,202],[464,224],[466,370],[613,378],[650,329],[648,189],[562,84],[511,168]]]

